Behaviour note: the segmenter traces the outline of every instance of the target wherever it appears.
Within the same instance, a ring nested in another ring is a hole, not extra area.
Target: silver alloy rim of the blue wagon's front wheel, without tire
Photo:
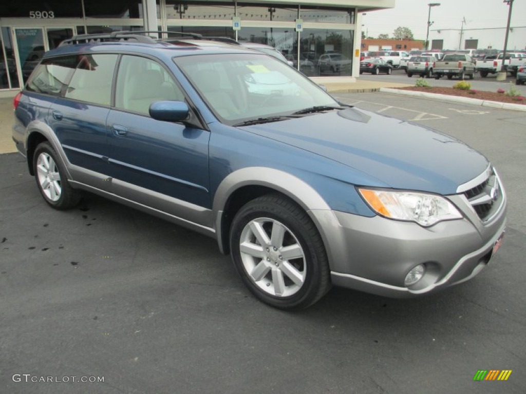
[[[239,241],[241,261],[250,279],[265,293],[288,297],[305,283],[305,253],[296,236],[268,217],[248,222]]]

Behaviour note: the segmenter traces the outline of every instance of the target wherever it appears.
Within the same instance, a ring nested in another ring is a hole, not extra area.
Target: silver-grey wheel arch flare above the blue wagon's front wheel
[[[219,250],[230,251],[230,226],[237,211],[259,196],[278,193],[294,201],[305,211],[330,210],[321,195],[304,180],[288,172],[250,167],[230,173],[218,186],[213,202],[215,229]],[[315,223],[318,231],[320,228]]]

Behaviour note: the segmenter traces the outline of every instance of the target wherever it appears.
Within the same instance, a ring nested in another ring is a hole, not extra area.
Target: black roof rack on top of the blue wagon
[[[176,34],[184,35],[187,38],[201,39],[203,36],[197,33],[181,33],[181,32],[163,32],[163,31],[149,31],[149,30],[138,30],[129,31],[124,30],[123,32],[112,32],[112,33],[99,33],[99,34],[81,34],[73,36],[72,38],[65,39],[59,46],[63,45],[75,45],[75,44],[86,44],[86,43],[115,43],[115,42],[137,42],[143,44],[156,44],[163,39],[154,38],[148,36],[148,34]]]

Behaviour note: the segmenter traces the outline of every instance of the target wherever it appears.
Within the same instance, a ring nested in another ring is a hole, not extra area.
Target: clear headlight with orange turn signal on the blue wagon
[[[390,219],[413,221],[421,226],[432,226],[442,220],[462,218],[457,208],[439,195],[370,189],[358,190],[375,212]]]

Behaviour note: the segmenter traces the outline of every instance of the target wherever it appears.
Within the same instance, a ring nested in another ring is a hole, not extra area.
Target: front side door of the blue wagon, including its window
[[[181,210],[178,201],[211,206],[210,134],[183,123],[151,118],[149,106],[159,100],[185,101],[168,69],[156,59],[123,55],[116,78],[115,108],[109,111],[106,123],[112,190],[190,219],[185,217],[189,211]]]

